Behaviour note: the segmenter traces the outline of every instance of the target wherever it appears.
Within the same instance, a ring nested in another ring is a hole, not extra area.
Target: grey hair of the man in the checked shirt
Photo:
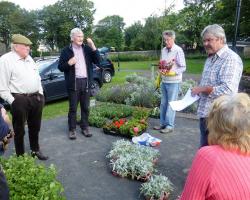
[[[223,39],[224,44],[227,43],[227,38],[224,29],[218,24],[206,26],[201,32],[201,37],[204,38],[206,34],[211,34],[217,38]]]

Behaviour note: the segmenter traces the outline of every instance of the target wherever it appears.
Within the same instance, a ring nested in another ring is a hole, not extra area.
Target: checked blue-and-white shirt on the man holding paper
[[[238,92],[243,64],[241,58],[225,45],[213,56],[209,56],[202,72],[200,86],[212,86],[213,91],[200,94],[197,114],[200,118],[208,116],[210,105],[223,94]]]

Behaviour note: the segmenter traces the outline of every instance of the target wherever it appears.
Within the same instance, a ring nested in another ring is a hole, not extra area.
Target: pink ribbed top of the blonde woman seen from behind
[[[180,200],[250,200],[250,156],[220,146],[196,154]]]

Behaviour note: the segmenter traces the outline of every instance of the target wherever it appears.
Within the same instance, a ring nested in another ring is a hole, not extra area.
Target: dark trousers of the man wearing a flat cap
[[[25,123],[28,125],[31,151],[39,151],[39,131],[41,128],[44,97],[40,94],[25,96],[13,94],[14,102],[11,104],[12,123],[15,132],[14,142],[17,155],[23,155]]]

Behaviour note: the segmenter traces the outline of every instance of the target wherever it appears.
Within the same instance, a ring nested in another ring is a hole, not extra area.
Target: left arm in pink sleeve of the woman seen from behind
[[[201,148],[193,160],[180,200],[205,200],[212,164],[203,150]]]

